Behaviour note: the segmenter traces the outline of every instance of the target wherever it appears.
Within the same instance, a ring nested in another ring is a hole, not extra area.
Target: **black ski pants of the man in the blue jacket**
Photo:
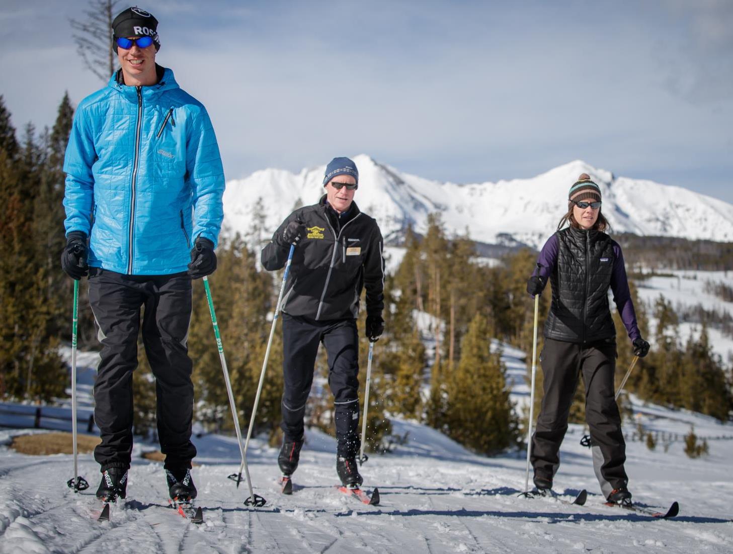
[[[95,459],[102,470],[130,465],[133,448],[133,371],[138,365],[140,309],[142,339],[155,376],[158,437],[166,468],[190,468],[194,410],[193,365],[188,358],[191,277],[130,276],[92,267],[92,305],[102,361],[94,386],[95,422],[102,442]]]

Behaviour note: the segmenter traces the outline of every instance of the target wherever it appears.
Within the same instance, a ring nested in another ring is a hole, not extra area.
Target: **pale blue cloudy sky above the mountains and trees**
[[[129,4],[120,3],[119,10]],[[367,153],[454,182],[582,159],[733,202],[733,2],[141,1],[228,178]],[[103,83],[67,18],[4,0],[0,94],[52,125]]]

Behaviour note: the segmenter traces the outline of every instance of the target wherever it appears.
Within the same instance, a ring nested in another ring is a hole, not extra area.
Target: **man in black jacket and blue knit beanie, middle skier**
[[[358,333],[361,289],[367,289],[366,336],[377,341],[384,330],[383,241],[375,219],[353,202],[358,170],[349,158],[334,158],[317,204],[295,210],[262,249],[262,265],[284,267],[295,244],[282,310],[283,445],[278,457],[284,477],[298,467],[303,416],[313,383],[318,344],[328,353],[328,384],[336,406],[336,470],[345,486],[361,485],[356,454],[358,434]]]

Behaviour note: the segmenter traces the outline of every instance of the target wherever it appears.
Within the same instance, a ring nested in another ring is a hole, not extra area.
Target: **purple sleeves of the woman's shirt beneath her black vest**
[[[621,314],[621,320],[624,322],[629,339],[632,341],[641,336],[638,325],[636,324],[636,311],[634,303],[631,300],[631,291],[629,290],[629,280],[626,276],[626,266],[624,265],[624,254],[621,246],[615,240],[611,240],[614,247],[614,273],[611,273],[611,292],[614,293],[614,303],[616,309]],[[537,263],[539,267],[535,267],[532,275],[539,275],[543,281],[547,283],[550,280],[550,273],[553,272],[557,264],[557,256],[559,249],[559,239],[557,234],[553,234],[548,239],[542,251],[539,252]]]

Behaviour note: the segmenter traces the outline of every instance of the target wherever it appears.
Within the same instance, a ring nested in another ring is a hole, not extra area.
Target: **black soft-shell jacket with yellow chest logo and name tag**
[[[280,246],[290,221],[306,226],[306,236],[295,247],[281,309],[312,320],[357,317],[361,289],[367,289],[367,314],[381,315],[384,308],[384,257],[382,234],[374,218],[361,213],[356,202],[337,219],[325,203],[295,210],[278,227],[273,240],[262,248],[262,265],[279,270],[287,262],[290,245]],[[345,220],[345,221],[343,221]]]

